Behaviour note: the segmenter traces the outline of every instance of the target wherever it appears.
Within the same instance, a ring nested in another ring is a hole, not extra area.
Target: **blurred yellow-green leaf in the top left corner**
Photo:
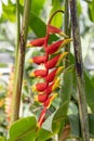
[[[11,2],[9,2],[8,5],[2,4],[2,10],[3,10],[2,18],[15,22],[16,4],[13,4]]]

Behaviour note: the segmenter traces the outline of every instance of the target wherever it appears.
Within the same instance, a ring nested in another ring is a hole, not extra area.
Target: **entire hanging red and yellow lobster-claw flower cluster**
[[[65,39],[57,40],[52,44],[49,44],[49,38],[51,34],[58,34]],[[44,66],[42,69],[36,69],[30,73],[31,77],[40,77],[40,79],[44,80],[43,82],[38,82],[32,86],[32,91],[38,92],[38,95],[36,95],[35,99],[43,105],[43,110],[39,116],[38,127],[42,126],[43,121],[45,120],[46,111],[57,95],[55,90],[59,87],[58,76],[65,68],[64,66],[59,66],[59,64],[68,54],[68,52],[59,53],[59,50],[70,41],[71,39],[68,38],[68,36],[65,35],[59,28],[54,27],[49,23],[46,25],[45,37],[35,39],[27,44],[27,48],[41,47],[45,52],[43,56],[33,56],[29,60],[29,63],[35,63],[37,65],[42,64]]]

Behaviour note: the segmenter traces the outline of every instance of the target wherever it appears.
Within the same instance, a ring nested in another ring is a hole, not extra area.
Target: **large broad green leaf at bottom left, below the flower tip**
[[[25,117],[15,121],[9,130],[8,141],[35,141],[37,138],[35,117]]]

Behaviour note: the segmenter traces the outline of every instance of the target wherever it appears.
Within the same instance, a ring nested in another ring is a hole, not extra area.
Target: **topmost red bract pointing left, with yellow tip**
[[[43,47],[44,41],[45,41],[45,37],[39,38],[39,39],[35,39],[35,40],[28,42],[26,47],[27,48],[31,48],[31,47]]]

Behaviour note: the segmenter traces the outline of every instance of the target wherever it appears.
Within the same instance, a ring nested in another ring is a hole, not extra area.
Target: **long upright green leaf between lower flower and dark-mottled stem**
[[[61,89],[61,99],[62,104],[59,105],[59,108],[57,110],[54,118],[54,123],[61,123],[61,131],[64,129],[65,119],[67,117],[69,101],[70,101],[70,93],[72,88],[72,68],[73,66],[70,66],[69,68],[66,68],[64,73],[64,84]]]

